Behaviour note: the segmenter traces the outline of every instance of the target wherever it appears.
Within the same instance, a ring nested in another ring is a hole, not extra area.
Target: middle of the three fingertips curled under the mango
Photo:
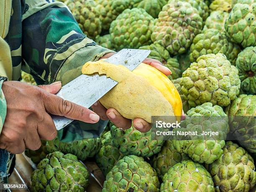
[[[115,126],[122,129],[131,128],[131,120],[124,118],[122,115],[120,115],[120,113],[118,113],[117,110],[109,108],[107,110],[107,116],[109,120],[114,123]]]

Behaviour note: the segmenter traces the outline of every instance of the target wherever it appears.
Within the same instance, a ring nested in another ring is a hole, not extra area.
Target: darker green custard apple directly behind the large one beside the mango
[[[217,29],[206,29],[195,36],[190,47],[190,61],[195,62],[199,56],[206,54],[222,53],[233,64],[236,64],[236,57],[240,52],[239,46],[230,43],[226,33]]]

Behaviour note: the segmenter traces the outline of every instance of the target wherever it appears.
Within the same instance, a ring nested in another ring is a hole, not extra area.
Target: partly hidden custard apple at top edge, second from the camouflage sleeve
[[[100,11],[100,21],[102,29],[108,31],[110,24],[125,9],[130,8],[130,0],[95,0],[97,10]]]

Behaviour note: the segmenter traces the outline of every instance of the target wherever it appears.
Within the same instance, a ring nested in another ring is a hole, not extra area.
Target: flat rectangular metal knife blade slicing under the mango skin
[[[123,65],[131,71],[135,69],[150,54],[150,50],[122,49],[105,61],[111,64]],[[65,84],[56,94],[68,100],[90,108],[97,100],[110,91],[118,82],[107,78],[106,75],[82,74],[71,82]],[[51,115],[57,130],[60,130],[73,120],[57,115]]]

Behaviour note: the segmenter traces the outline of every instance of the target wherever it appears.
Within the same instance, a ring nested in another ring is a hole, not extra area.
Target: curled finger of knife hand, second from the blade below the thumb
[[[27,135],[27,138],[24,139],[25,147],[36,151],[38,148],[41,147],[41,140],[39,138],[38,133],[30,132]]]

